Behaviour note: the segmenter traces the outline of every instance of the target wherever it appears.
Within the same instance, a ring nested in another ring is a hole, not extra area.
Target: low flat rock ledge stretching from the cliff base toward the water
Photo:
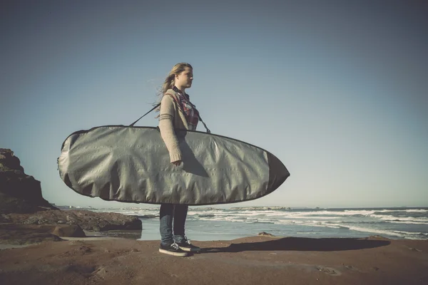
[[[91,212],[87,210],[50,210],[34,214],[3,214],[0,222],[15,224],[78,224],[88,231],[102,232],[112,229],[142,229],[141,219],[118,213]]]

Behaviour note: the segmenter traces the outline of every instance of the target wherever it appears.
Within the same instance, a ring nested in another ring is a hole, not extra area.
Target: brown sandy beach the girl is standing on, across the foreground
[[[0,251],[0,284],[428,284],[428,241],[246,237],[193,242],[63,238]]]

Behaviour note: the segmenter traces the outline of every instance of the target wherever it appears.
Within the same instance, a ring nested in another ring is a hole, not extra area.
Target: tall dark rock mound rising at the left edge
[[[0,214],[57,209],[41,196],[40,181],[26,175],[19,158],[0,148]]]

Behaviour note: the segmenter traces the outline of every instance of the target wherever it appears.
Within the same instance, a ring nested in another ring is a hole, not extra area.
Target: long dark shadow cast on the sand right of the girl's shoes
[[[303,237],[285,237],[267,242],[245,242],[230,244],[229,247],[211,247],[201,249],[200,253],[248,252],[248,251],[300,251],[300,252],[334,252],[342,250],[372,249],[385,247],[391,242],[373,239],[310,239]]]

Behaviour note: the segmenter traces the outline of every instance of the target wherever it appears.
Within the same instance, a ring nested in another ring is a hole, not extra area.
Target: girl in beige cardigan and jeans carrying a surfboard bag
[[[196,130],[198,110],[190,103],[186,88],[192,86],[193,68],[189,63],[177,63],[165,78],[161,89],[159,130],[170,155],[170,162],[182,163],[180,147],[174,129]],[[161,204],[161,246],[159,252],[185,257],[188,252],[199,252],[200,248],[190,244],[185,237],[184,224],[188,212],[186,204]]]

